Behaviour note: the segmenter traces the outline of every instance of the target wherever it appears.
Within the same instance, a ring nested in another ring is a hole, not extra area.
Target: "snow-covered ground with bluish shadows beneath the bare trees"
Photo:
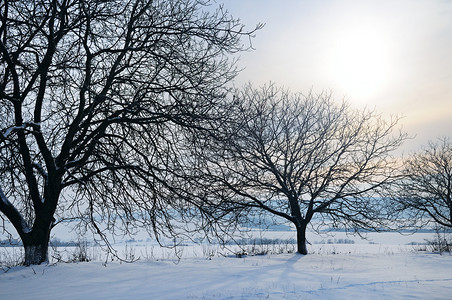
[[[336,233],[312,236],[311,241],[325,244],[310,245],[307,256],[240,258],[231,254],[240,252],[233,246],[190,245],[174,251],[149,241],[118,244],[122,256],[140,257],[134,263],[112,261],[89,247],[91,262],[0,273],[0,299],[451,299],[452,256],[406,245],[425,237],[379,233],[369,235],[372,243],[334,244],[345,240]]]

